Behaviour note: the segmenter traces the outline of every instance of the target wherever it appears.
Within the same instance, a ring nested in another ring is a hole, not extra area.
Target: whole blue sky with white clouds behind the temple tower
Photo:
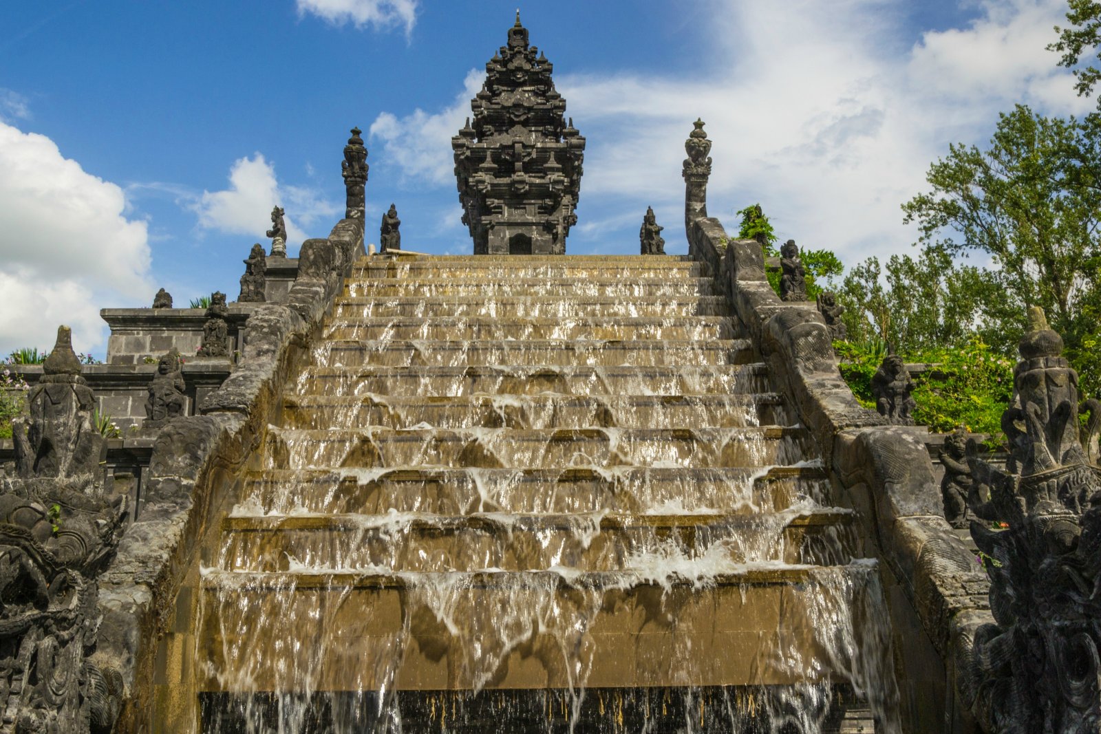
[[[0,353],[58,324],[102,353],[101,307],[236,297],[276,201],[291,253],[344,210],[367,133],[368,235],[470,252],[449,139],[515,0],[0,2]],[[1065,0],[522,3],[588,139],[568,252],[637,252],[647,206],[686,250],[680,161],[715,141],[709,210],[760,201],[783,238],[847,264],[904,252],[900,204],[949,142],[1026,102],[1080,113],[1044,46]]]

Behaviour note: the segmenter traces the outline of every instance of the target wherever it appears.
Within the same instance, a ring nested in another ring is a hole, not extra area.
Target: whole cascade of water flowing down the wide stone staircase
[[[374,256],[324,336],[204,569],[203,731],[872,731],[874,563],[702,265]]]

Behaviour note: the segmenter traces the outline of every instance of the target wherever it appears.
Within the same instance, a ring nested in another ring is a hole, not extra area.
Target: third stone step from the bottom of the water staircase
[[[818,462],[820,463],[820,462]],[[244,514],[732,513],[827,504],[818,464],[567,469],[274,469],[247,475]]]

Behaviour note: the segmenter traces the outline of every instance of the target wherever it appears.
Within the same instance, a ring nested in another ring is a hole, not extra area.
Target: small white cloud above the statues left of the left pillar
[[[272,207],[276,205],[286,210],[288,247],[301,244],[308,237],[303,227],[340,211],[316,189],[280,185],[275,166],[261,153],[235,161],[229,169],[229,188],[203,191],[190,207],[198,213],[199,227],[204,229],[262,239],[271,226]]]

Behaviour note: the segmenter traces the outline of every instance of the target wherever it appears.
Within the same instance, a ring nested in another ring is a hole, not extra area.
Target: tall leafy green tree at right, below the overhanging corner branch
[[[962,298],[963,311],[982,305],[977,327],[998,351],[1015,347],[1026,306],[1044,308],[1072,354],[1098,329],[1099,141],[1093,118],[1049,119],[1017,106],[1000,116],[988,150],[949,146],[929,168],[931,190],[903,205],[922,243],[990,260],[962,275],[969,281],[950,300],[956,307]],[[1083,369],[1095,385],[1101,371]]]

